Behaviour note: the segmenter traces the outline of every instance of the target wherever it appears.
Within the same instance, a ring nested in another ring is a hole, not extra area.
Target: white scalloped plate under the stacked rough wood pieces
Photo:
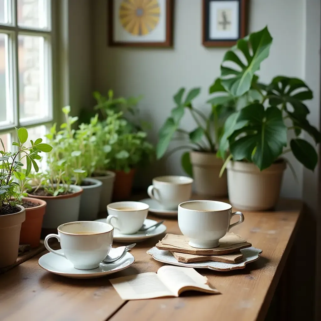
[[[243,261],[239,263],[222,263],[222,262],[199,262],[199,263],[181,263],[170,254],[169,251],[159,250],[157,247],[152,247],[147,251],[147,254],[151,255],[156,261],[162,263],[184,266],[184,267],[194,267],[196,269],[210,269],[214,271],[231,271],[237,269],[244,269],[245,265],[250,262],[256,261],[260,257],[262,250],[256,247],[247,247],[240,250],[243,254]]]

